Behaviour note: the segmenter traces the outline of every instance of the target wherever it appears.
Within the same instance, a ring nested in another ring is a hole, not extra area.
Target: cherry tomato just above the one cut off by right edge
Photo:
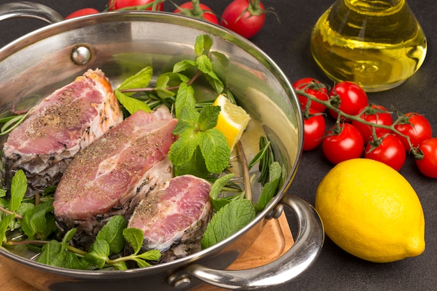
[[[405,114],[406,123],[396,124],[394,126],[400,133],[410,137],[410,142],[413,147],[418,147],[424,140],[428,140],[432,137],[432,128],[428,119],[422,114],[409,112]],[[403,143],[406,151],[410,151],[410,145],[406,137],[398,135],[399,139]]]

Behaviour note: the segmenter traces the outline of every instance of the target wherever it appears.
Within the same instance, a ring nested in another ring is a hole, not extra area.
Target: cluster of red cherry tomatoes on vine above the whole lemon
[[[322,144],[323,154],[334,164],[364,154],[395,170],[412,154],[422,174],[437,178],[437,137],[424,115],[397,112],[394,120],[385,107],[369,104],[364,90],[353,82],[328,89],[318,80],[303,78],[293,87],[304,112],[304,151]],[[336,120],[328,129],[326,111]]]

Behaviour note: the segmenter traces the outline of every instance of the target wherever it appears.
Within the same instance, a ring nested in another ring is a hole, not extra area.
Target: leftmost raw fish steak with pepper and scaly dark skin
[[[101,70],[88,70],[36,105],[9,134],[3,145],[5,182],[22,169],[27,196],[58,184],[73,156],[122,120],[109,80]]]

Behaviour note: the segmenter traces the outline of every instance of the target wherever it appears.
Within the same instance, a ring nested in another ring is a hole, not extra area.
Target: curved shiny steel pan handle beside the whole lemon
[[[255,290],[286,283],[305,271],[322,250],[325,234],[316,209],[295,195],[284,195],[281,204],[290,208],[297,218],[299,232],[290,250],[280,258],[253,269],[228,271],[191,264],[170,276],[168,283],[184,288],[190,276],[230,290]]]

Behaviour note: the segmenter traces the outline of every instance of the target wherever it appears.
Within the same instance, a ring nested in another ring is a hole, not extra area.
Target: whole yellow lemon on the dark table
[[[339,163],[320,182],[315,207],[327,236],[358,258],[394,262],[424,251],[422,204],[408,181],[383,163]]]

